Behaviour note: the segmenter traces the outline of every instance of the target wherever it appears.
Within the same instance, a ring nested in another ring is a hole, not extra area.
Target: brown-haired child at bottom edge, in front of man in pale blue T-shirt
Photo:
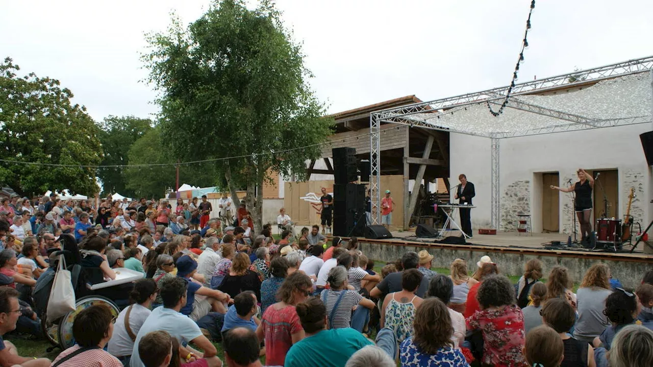
[[[179,342],[165,330],[149,332],[138,343],[138,352],[145,367],[221,367],[217,357],[204,357],[182,364]]]

